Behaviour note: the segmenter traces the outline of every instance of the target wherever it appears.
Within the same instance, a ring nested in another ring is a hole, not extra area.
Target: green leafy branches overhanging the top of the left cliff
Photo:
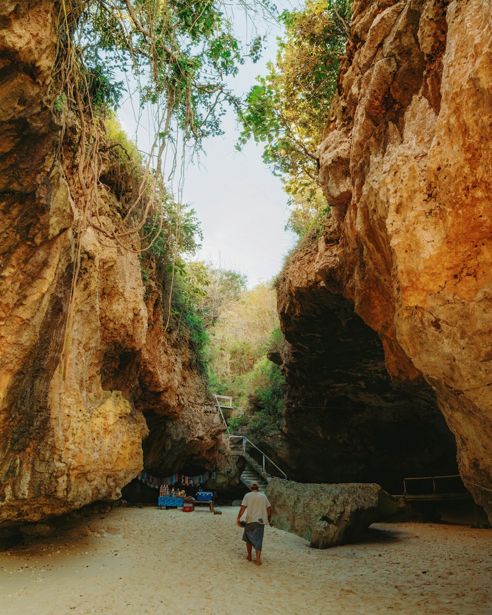
[[[139,80],[141,103],[156,107],[157,139],[182,130],[201,140],[221,133],[224,103],[239,104],[226,77],[245,57],[259,57],[261,37],[242,42],[228,13],[274,10],[269,0],[72,0],[62,4],[60,34],[80,68],[77,81],[87,106],[117,106],[118,76]],[[252,29],[254,31],[254,28]],[[68,82],[65,87],[69,89]]]

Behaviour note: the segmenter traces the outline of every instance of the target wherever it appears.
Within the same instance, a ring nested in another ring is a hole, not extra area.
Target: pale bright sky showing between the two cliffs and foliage
[[[281,8],[282,2],[277,6]],[[276,56],[279,34],[280,26],[274,25],[261,59],[240,66],[239,74],[229,82],[234,93],[247,92],[255,84],[256,75],[266,74],[266,62]],[[118,115],[125,132],[148,151],[148,133],[143,122],[137,127],[130,99]],[[234,149],[239,128],[232,109],[224,116],[223,129],[223,136],[204,140],[205,152],[200,154],[199,163],[186,165],[183,202],[196,211],[204,234],[202,249],[195,258],[246,274],[252,288],[280,271],[296,238],[284,230],[287,194],[280,178],[272,175],[261,160],[262,146],[250,142],[242,152]]]

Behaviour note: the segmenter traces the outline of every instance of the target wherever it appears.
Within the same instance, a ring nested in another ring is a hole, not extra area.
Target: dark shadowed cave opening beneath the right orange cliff
[[[381,339],[351,301],[329,292],[298,301],[295,317],[281,315],[288,454],[277,458],[291,476],[375,482],[398,494],[405,477],[458,474],[456,441],[432,387],[389,376]]]

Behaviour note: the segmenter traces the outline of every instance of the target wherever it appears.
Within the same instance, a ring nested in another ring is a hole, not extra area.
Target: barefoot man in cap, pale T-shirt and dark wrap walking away
[[[261,566],[261,546],[263,544],[263,532],[264,524],[271,523],[272,520],[272,507],[270,502],[264,493],[258,491],[260,485],[253,480],[250,483],[250,493],[247,493],[241,503],[239,515],[237,515],[236,523],[239,527],[242,527],[241,517],[246,510],[246,525],[244,526],[244,534],[242,539],[246,543],[246,549],[248,551],[247,560],[253,561],[251,557],[252,549],[255,547],[256,551],[256,566]]]

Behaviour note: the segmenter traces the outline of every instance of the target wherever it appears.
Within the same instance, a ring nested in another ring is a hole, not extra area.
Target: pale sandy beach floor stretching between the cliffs
[[[81,515],[0,554],[1,613],[492,614],[492,530],[378,523],[358,544],[321,551],[271,527],[256,566],[238,508],[221,510]]]

